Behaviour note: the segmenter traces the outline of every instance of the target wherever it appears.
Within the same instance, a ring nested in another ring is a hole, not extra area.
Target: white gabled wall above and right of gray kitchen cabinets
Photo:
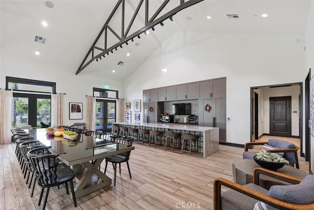
[[[227,142],[250,141],[250,87],[302,82],[303,44],[295,36],[173,34],[124,85],[127,100],[142,90],[227,77]],[[167,68],[167,73],[161,72]],[[140,84],[139,82],[140,81]],[[132,116],[132,119],[134,116]]]

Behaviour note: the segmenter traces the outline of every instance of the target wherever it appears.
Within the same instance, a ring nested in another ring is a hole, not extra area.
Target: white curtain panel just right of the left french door
[[[51,95],[51,126],[63,125],[63,94]]]

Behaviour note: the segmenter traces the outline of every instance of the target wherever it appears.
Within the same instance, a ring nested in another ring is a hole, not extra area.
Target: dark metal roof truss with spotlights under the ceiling
[[[146,30],[149,30],[151,28],[153,28],[154,26],[158,25],[159,23],[162,23],[162,21],[172,17],[173,15],[175,15],[177,12],[180,12],[181,10],[192,6],[198,2],[201,2],[203,0],[180,0],[180,5],[177,6],[176,8],[172,9],[171,11],[165,13],[164,15],[160,16],[159,18],[156,19],[156,17],[159,15],[159,13],[164,9],[164,7],[167,5],[167,3],[170,0],[164,0],[163,3],[160,5],[160,7],[157,9],[157,11],[153,14],[153,16],[151,17],[151,19],[148,20],[148,4],[149,4],[149,0],[145,0],[145,26],[137,31],[135,31],[134,33],[129,34],[129,31],[131,29],[131,26],[138,14],[139,9],[141,8],[142,4],[143,4],[144,0],[139,0],[139,3],[136,7],[136,10],[132,16],[132,19],[129,23],[129,26],[127,28],[127,30],[124,30],[124,13],[125,13],[125,0],[118,0],[117,4],[115,5],[115,7],[113,8],[111,14],[109,15],[107,21],[105,22],[102,30],[99,32],[99,34],[97,35],[94,43],[92,44],[92,46],[89,48],[85,58],[83,59],[83,61],[81,62],[81,64],[78,67],[78,70],[76,72],[76,75],[78,75],[79,72],[81,72],[86,66],[88,66],[92,61],[100,58],[101,56],[105,57],[105,54],[109,54],[109,52],[119,46],[122,46],[122,44],[130,41],[131,39],[133,39],[134,37],[138,36],[139,34],[145,32]],[[122,3],[122,23],[121,23],[121,36],[114,31],[109,25],[108,23],[110,22],[112,16],[115,14],[115,12],[117,11],[118,7],[120,6],[120,4]],[[113,33],[120,41],[117,42],[116,44],[112,45],[111,47],[107,48],[107,30],[110,30],[111,33]],[[102,34],[105,33],[105,46],[104,49],[95,46],[96,43],[98,42],[99,38],[102,36]],[[94,55],[94,50],[98,50],[98,51],[102,51],[101,53]],[[88,57],[91,56],[91,59],[88,60],[86,62],[86,60],[88,59]],[[86,63],[85,63],[86,62]]]

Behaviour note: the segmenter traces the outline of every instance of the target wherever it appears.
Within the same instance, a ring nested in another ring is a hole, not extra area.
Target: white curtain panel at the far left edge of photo
[[[0,90],[0,144],[11,143],[13,91]]]

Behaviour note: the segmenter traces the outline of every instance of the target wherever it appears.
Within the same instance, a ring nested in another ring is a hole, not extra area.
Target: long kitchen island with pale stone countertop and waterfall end
[[[219,128],[217,127],[203,127],[198,125],[184,125],[184,124],[161,124],[161,123],[146,123],[146,122],[114,122],[112,127],[127,127],[143,130],[154,130],[163,132],[162,145],[166,142],[166,133],[180,133],[199,136],[198,152],[203,153],[203,157],[219,150]],[[181,145],[181,141],[175,143],[175,147]],[[195,145],[192,146],[192,149]]]

